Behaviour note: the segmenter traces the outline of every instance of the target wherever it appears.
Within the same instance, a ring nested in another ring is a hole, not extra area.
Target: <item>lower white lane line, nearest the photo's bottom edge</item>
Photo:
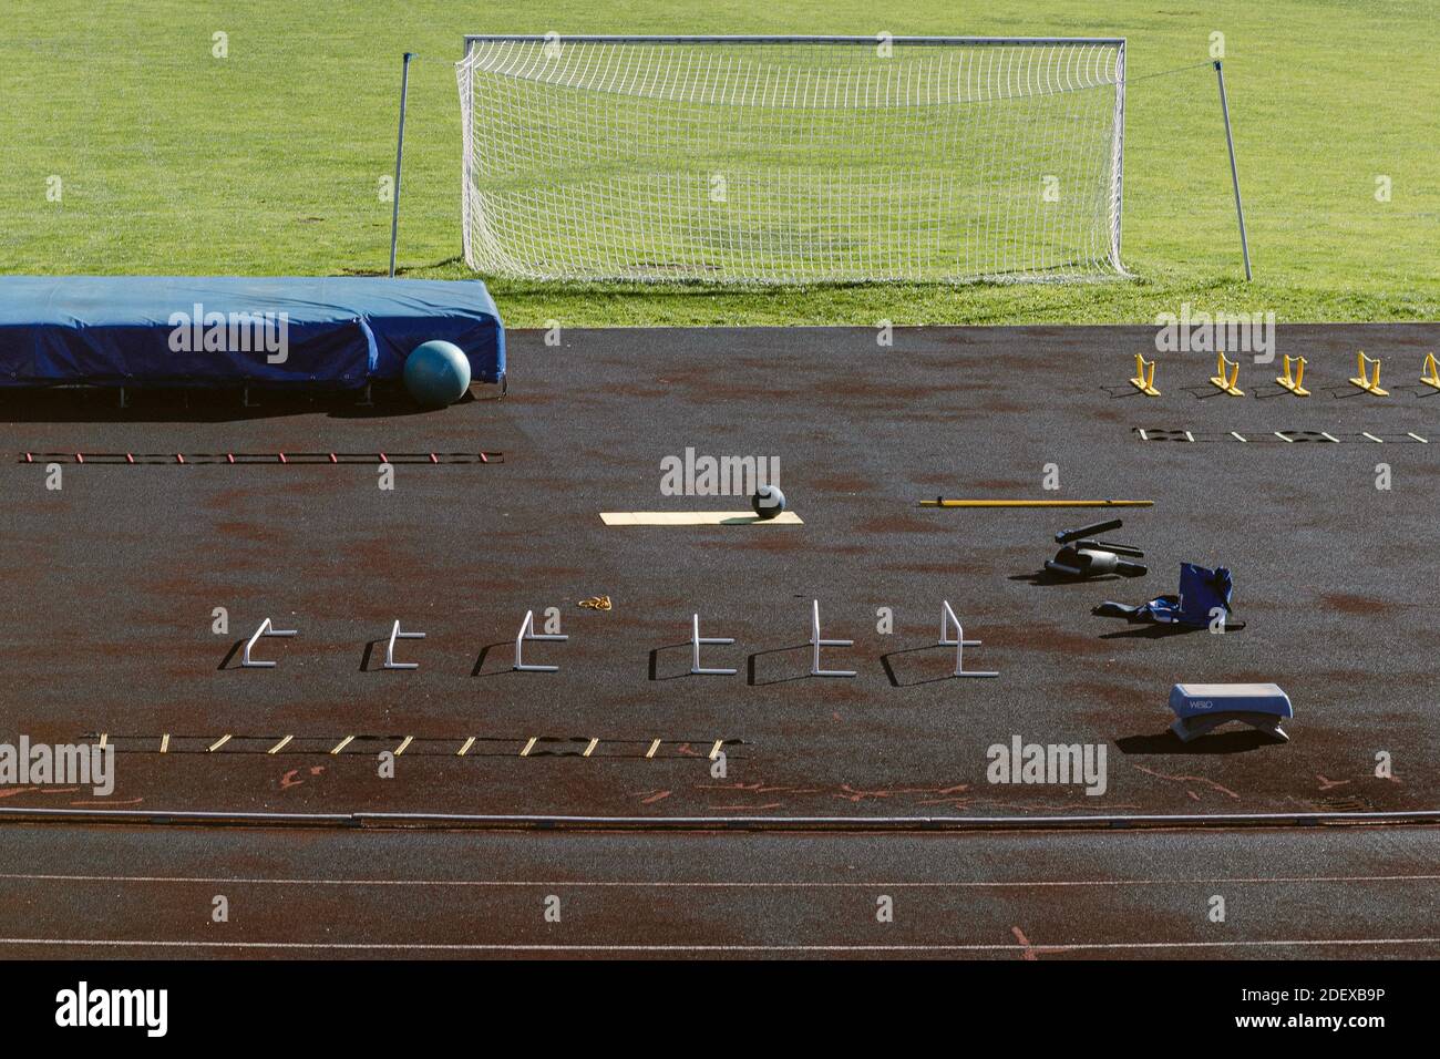
[[[1243,941],[1107,941],[1047,945],[619,945],[619,944],[485,944],[485,942],[383,942],[383,941],[141,941],[111,938],[0,938],[0,945],[58,945],[69,948],[239,948],[331,951],[441,951],[441,952],[1077,952],[1123,949],[1224,949],[1224,948],[1328,948],[1336,945],[1436,945],[1440,938],[1273,938]]]

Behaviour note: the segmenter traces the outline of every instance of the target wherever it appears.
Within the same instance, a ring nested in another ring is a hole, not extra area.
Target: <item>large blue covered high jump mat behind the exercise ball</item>
[[[0,386],[359,389],[432,339],[504,383],[478,280],[0,277]]]

